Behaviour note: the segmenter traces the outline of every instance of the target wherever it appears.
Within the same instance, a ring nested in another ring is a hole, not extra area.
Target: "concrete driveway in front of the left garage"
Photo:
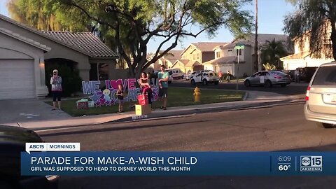
[[[71,118],[64,111],[51,109],[40,99],[0,100],[0,124],[20,126],[22,122]]]

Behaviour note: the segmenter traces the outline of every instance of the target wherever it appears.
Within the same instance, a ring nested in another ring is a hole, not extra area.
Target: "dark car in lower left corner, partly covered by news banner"
[[[57,188],[58,176],[21,176],[21,152],[26,142],[43,142],[32,130],[0,125],[0,188]]]

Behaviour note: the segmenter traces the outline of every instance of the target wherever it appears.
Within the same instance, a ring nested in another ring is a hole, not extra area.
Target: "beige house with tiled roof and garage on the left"
[[[91,33],[38,31],[0,15],[0,41],[0,99],[47,95],[45,64],[55,62],[78,69],[83,80],[116,77],[118,56]]]

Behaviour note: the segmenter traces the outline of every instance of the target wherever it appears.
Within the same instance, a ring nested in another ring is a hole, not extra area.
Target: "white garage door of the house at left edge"
[[[33,59],[0,59],[0,99],[36,97]]]

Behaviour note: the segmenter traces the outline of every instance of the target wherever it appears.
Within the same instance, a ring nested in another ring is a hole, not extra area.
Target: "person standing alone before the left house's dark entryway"
[[[51,92],[52,92],[52,110],[56,109],[56,102],[58,109],[61,109],[61,96],[62,96],[62,78],[58,76],[58,70],[52,71],[52,77],[50,78]]]

